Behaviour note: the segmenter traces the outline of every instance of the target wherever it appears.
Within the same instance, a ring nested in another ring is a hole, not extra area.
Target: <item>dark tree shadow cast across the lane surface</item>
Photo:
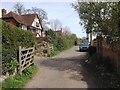
[[[69,77],[70,79],[85,81],[87,82],[88,88],[96,88],[94,77],[91,76],[85,67],[85,60],[87,60],[86,54],[71,58],[50,58],[49,60],[40,61],[39,64],[59,71],[66,70],[67,73],[72,73]]]

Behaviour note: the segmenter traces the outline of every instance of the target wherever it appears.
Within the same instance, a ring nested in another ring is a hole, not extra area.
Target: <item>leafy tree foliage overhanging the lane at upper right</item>
[[[72,4],[86,32],[105,36],[110,44],[120,43],[120,2],[79,2]]]

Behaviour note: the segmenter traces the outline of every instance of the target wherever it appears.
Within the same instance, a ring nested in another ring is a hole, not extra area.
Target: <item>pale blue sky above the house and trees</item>
[[[85,30],[83,30],[82,26],[79,24],[79,16],[77,12],[72,8],[70,5],[75,0],[61,0],[55,2],[52,0],[51,2],[48,0],[41,0],[41,1],[26,1],[21,2],[26,9],[30,9],[31,7],[41,8],[47,12],[48,21],[51,19],[58,19],[61,21],[62,26],[69,27],[70,31],[77,35],[78,38],[86,37]],[[19,0],[17,0],[19,2]],[[4,8],[7,10],[7,13],[13,10],[13,6],[15,5],[16,1],[7,2],[4,0],[2,1],[2,5],[0,5],[0,9]],[[0,12],[1,15],[1,12]],[[1,16],[0,16],[1,17]]]

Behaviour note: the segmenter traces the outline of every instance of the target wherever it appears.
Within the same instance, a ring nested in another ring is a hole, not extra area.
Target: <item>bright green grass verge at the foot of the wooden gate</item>
[[[36,71],[36,65],[32,65],[25,69],[22,75],[16,74],[14,77],[7,78],[5,81],[2,82],[2,90],[6,90],[6,88],[10,89],[24,87],[28,80],[30,80],[33,77]]]

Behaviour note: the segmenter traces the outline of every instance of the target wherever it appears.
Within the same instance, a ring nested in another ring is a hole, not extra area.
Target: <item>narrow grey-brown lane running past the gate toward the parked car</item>
[[[94,78],[81,64],[86,54],[75,46],[52,58],[35,57],[39,70],[25,88],[95,88]]]

